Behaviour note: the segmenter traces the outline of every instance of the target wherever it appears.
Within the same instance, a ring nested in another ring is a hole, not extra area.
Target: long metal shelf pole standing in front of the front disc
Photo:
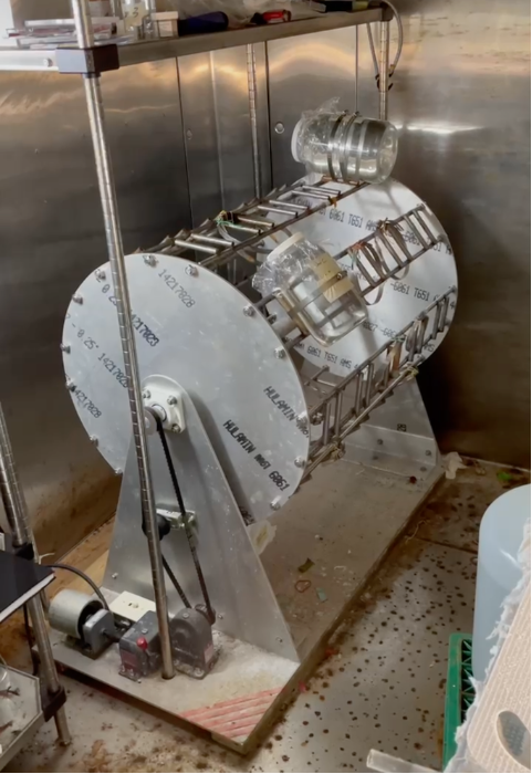
[[[80,48],[91,48],[94,41],[88,17],[87,0],[72,0],[72,8],[77,32],[77,43]],[[88,119],[91,124],[91,135],[94,145],[94,157],[96,160],[96,171],[100,184],[100,197],[102,200],[102,210],[105,222],[107,252],[117,301],[116,308],[118,313],[122,353],[124,356],[125,374],[127,376],[133,438],[135,441],[135,451],[138,463],[140,505],[149,548],[152,579],[160,635],[163,677],[170,680],[175,674],[175,669],[170,644],[168,598],[166,595],[165,571],[163,566],[163,554],[160,551],[160,538],[157,524],[157,509],[155,504],[152,471],[149,467],[148,443],[144,421],[143,393],[138,370],[135,334],[132,322],[132,305],[127,284],[124,247],[122,243],[118,202],[116,198],[116,187],[111,164],[111,151],[105,128],[105,113],[103,107],[100,76],[86,76],[84,77],[84,84]]]

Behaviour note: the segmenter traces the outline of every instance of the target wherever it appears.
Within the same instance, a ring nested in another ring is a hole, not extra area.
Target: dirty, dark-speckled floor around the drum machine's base
[[[439,768],[447,642],[471,630],[480,519],[529,481],[499,471],[471,463],[437,488],[255,754],[241,759],[66,678],[73,746],[56,749],[45,729],[7,771],[365,772],[372,747]]]

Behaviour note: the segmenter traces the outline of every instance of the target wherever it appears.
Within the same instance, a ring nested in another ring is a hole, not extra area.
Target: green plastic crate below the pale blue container
[[[449,641],[449,669],[447,673],[446,720],[444,733],[444,771],[457,752],[456,735],[474,701],[471,684],[472,637],[451,635]]]

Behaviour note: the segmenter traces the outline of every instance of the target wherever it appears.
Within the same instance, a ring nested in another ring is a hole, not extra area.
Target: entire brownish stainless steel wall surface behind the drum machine
[[[397,176],[444,221],[461,282],[451,334],[423,372],[425,398],[444,448],[529,464],[530,3],[397,3]],[[302,111],[337,95],[376,115],[364,30],[358,95],[355,53],[354,30],[257,46],[265,187],[302,171],[290,153]],[[179,79],[169,61],[104,86],[128,250],[253,195],[244,49],[181,60]],[[0,395],[41,545],[61,551],[108,515],[116,490],[77,423],[58,349],[70,295],[105,260],[77,79],[0,75]]]

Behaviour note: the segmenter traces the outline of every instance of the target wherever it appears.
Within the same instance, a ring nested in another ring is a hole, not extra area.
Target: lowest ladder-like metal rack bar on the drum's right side
[[[322,379],[317,380],[324,375],[323,368],[306,380],[306,387],[314,387],[320,393],[317,402],[309,409],[309,417],[314,425],[323,421],[323,431],[321,438],[311,446],[305,479],[333,453],[342,452],[342,444],[347,436],[365,422],[372,411],[378,408],[403,381],[416,375],[416,369],[425,359],[425,348],[450,325],[447,315],[456,292],[456,287],[450,287],[447,293],[438,296],[416,320],[399,331],[395,338],[386,342],[344,379],[337,384],[330,383],[326,395],[323,395],[322,390],[325,383]],[[432,314],[435,324],[430,327]],[[346,391],[348,387],[351,387],[350,395]],[[346,405],[348,408],[344,410]],[[326,418],[333,411],[334,432],[330,439]]]

